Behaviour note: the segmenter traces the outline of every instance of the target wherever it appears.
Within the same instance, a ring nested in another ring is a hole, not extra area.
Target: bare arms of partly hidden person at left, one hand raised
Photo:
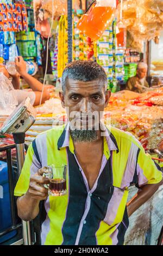
[[[43,84],[26,72],[26,62],[24,62],[21,56],[15,58],[15,68],[17,71],[15,75],[10,75],[3,65],[0,66],[0,72],[3,72],[3,74],[7,78],[9,78],[10,76],[12,77],[12,85],[15,89],[18,104],[20,104],[27,97],[30,97],[30,102],[33,106],[40,105]],[[27,92],[20,89],[20,76],[24,78],[24,80],[29,84],[32,92]],[[46,100],[49,99],[49,97],[50,95],[48,90],[44,88],[41,103],[44,103]]]

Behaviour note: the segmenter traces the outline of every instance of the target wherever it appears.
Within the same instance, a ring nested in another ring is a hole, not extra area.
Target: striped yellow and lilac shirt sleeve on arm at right
[[[142,146],[139,148],[136,165],[137,184],[157,184],[162,180],[162,171],[159,164],[152,160],[151,155],[146,154]]]

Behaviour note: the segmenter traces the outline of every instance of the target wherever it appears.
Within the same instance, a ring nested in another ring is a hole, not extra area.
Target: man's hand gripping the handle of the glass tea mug
[[[45,167],[39,169],[36,174],[30,176],[29,188],[27,196],[36,200],[45,200],[48,197],[48,189],[43,185],[49,184],[49,179],[43,177],[43,173],[47,173]]]

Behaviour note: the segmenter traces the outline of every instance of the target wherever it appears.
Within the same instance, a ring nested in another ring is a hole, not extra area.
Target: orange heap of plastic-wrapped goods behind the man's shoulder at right
[[[122,91],[112,94],[105,108],[105,123],[132,133],[145,150],[163,150],[163,90],[143,94]]]

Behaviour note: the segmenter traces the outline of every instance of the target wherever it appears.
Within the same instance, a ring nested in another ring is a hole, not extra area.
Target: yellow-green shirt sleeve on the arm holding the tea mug
[[[27,192],[29,188],[30,175],[35,174],[39,168],[41,168],[41,164],[34,154],[32,144],[30,144],[21,175],[14,190],[14,196],[21,197]]]

